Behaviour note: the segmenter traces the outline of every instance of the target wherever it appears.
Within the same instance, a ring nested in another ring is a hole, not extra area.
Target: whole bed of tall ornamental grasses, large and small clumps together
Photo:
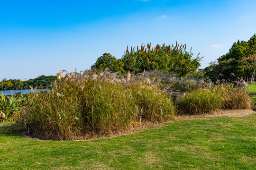
[[[179,90],[186,93],[174,104],[165,92]],[[124,75],[107,69],[87,70],[67,73],[50,91],[29,94],[17,125],[45,139],[88,139],[164,122],[177,112],[201,114],[250,108],[246,89],[228,84],[180,79],[155,70]]]

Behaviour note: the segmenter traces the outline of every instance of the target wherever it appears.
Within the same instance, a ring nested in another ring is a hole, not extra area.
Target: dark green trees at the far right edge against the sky
[[[253,82],[256,72],[256,34],[248,41],[234,42],[227,54],[209,64],[204,68],[207,78]]]

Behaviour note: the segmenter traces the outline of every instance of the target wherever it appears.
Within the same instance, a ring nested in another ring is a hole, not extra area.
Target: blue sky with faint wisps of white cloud
[[[0,0],[0,80],[86,70],[103,53],[178,39],[201,68],[256,33],[256,0]]]

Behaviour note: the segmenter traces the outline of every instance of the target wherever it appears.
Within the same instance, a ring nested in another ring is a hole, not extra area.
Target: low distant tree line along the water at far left
[[[56,80],[56,76],[38,76],[35,79],[21,81],[20,79],[3,79],[0,82],[0,90],[21,90],[29,89],[29,86],[46,88]]]

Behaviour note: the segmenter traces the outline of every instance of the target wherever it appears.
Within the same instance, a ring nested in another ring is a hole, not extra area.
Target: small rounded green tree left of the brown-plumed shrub
[[[101,71],[104,71],[106,68],[109,68],[110,71],[121,72],[124,73],[123,62],[120,59],[116,59],[110,53],[104,53],[101,57],[99,57],[95,64],[91,66],[91,68],[95,68]]]

